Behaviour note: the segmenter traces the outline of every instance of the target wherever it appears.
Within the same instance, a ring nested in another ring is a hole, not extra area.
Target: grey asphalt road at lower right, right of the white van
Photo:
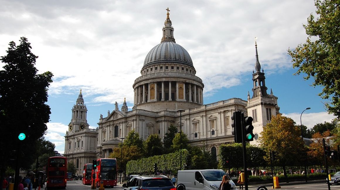
[[[265,185],[267,189],[272,189],[272,186],[269,184]],[[280,183],[280,190],[297,190],[297,189],[302,189],[302,190],[307,190],[307,189],[318,189],[322,190],[328,189],[328,186],[326,182],[317,182],[317,183],[303,183],[303,184],[296,184],[296,183]],[[248,190],[256,190],[258,186],[252,185],[248,187]],[[238,187],[237,187],[238,188]],[[244,188],[243,188],[244,189]],[[340,190],[340,185],[331,185],[330,186],[331,190]]]

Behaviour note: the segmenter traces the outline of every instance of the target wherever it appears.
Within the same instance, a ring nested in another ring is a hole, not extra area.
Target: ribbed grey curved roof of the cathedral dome
[[[169,61],[192,66],[188,51],[174,41],[164,41],[152,48],[145,58],[144,66],[155,62]]]

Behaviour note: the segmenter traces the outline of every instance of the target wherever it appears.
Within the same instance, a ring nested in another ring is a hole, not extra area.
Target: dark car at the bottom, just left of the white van
[[[171,180],[164,175],[135,175],[123,187],[123,190],[176,190]]]

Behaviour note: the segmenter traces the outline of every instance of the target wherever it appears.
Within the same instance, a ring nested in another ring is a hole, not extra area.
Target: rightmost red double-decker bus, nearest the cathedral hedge
[[[117,186],[117,161],[116,159],[103,158],[97,160],[95,172],[95,185],[99,187],[100,181],[104,186]]]

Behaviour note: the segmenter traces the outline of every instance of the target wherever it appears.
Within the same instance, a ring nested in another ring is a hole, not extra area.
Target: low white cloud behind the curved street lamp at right
[[[331,122],[331,120],[334,120],[336,117],[334,115],[330,115],[327,112],[319,112],[319,113],[306,113],[304,112],[301,116],[301,113],[288,113],[283,114],[285,117],[289,117],[293,119],[296,123],[296,125],[305,125],[308,129],[314,127],[314,125],[318,123],[324,123],[324,122]],[[300,116],[301,116],[301,122],[300,122]]]

